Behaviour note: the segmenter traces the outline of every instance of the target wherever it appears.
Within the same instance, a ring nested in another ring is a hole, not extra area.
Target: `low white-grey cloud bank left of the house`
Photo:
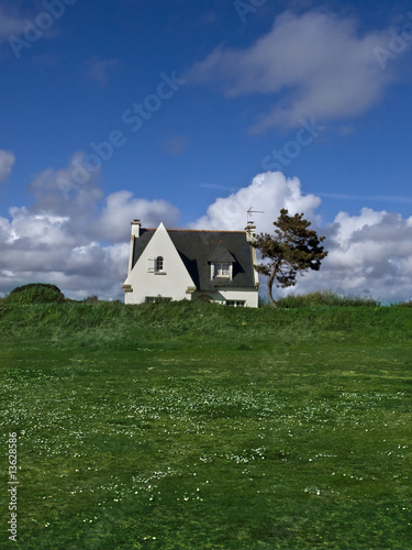
[[[71,162],[43,170],[27,186],[34,196],[31,207],[13,207],[9,218],[0,217],[0,293],[43,282],[71,298],[121,299],[131,220],[142,218],[154,227],[178,223],[178,209],[165,200],[138,199],[131,191],[103,197],[98,174],[66,200],[58,178],[71,170]]]

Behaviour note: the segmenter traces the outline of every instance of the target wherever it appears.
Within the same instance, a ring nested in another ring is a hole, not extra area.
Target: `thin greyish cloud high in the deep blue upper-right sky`
[[[216,84],[227,96],[261,94],[272,108],[260,113],[254,130],[296,127],[301,118],[356,117],[372,107],[392,81],[374,50],[388,48],[387,32],[359,33],[356,21],[329,12],[290,11],[268,34],[247,48],[218,47],[196,64],[188,77]]]

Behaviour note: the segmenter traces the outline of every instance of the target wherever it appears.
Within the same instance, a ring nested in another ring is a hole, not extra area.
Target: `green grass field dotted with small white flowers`
[[[0,304],[0,331],[1,549],[412,548],[412,309]]]

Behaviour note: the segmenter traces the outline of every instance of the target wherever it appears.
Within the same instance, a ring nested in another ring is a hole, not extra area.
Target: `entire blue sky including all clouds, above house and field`
[[[0,293],[119,298],[131,219],[287,206],[331,251],[297,292],[409,299],[411,44],[402,1],[0,0]]]

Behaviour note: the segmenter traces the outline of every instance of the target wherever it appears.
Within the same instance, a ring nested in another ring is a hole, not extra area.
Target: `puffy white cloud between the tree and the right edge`
[[[358,216],[339,212],[324,234],[329,255],[320,272],[301,279],[299,292],[412,298],[412,217],[369,208]]]

